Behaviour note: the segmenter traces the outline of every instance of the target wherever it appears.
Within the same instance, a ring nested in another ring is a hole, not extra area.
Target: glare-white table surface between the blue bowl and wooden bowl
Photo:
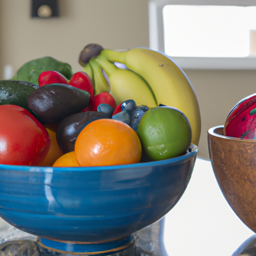
[[[227,204],[210,161],[198,157],[184,194],[164,223],[169,256],[230,256],[254,234]],[[0,218],[0,233],[8,226]]]

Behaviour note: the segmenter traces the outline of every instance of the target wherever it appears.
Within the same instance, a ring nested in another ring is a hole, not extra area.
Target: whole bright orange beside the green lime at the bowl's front
[[[141,143],[136,132],[115,119],[97,119],[87,124],[74,144],[81,166],[129,164],[140,161]]]

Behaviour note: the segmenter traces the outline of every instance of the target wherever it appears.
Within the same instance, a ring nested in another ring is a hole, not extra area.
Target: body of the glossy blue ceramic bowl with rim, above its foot
[[[0,165],[0,216],[42,239],[96,242],[126,237],[179,200],[197,153],[115,166]]]

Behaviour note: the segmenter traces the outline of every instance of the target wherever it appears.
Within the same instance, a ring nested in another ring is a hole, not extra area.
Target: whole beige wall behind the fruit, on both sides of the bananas
[[[80,50],[96,42],[106,48],[148,47],[147,0],[59,0],[60,17],[30,18],[30,0],[0,0],[0,79],[25,61],[49,55],[81,70]],[[223,124],[232,106],[256,92],[256,71],[184,70],[202,118],[200,157],[208,158],[207,129]]]

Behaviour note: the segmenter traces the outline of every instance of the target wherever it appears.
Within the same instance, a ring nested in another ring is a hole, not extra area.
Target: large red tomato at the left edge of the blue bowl
[[[0,105],[0,164],[36,165],[46,155],[49,134],[26,109]]]

